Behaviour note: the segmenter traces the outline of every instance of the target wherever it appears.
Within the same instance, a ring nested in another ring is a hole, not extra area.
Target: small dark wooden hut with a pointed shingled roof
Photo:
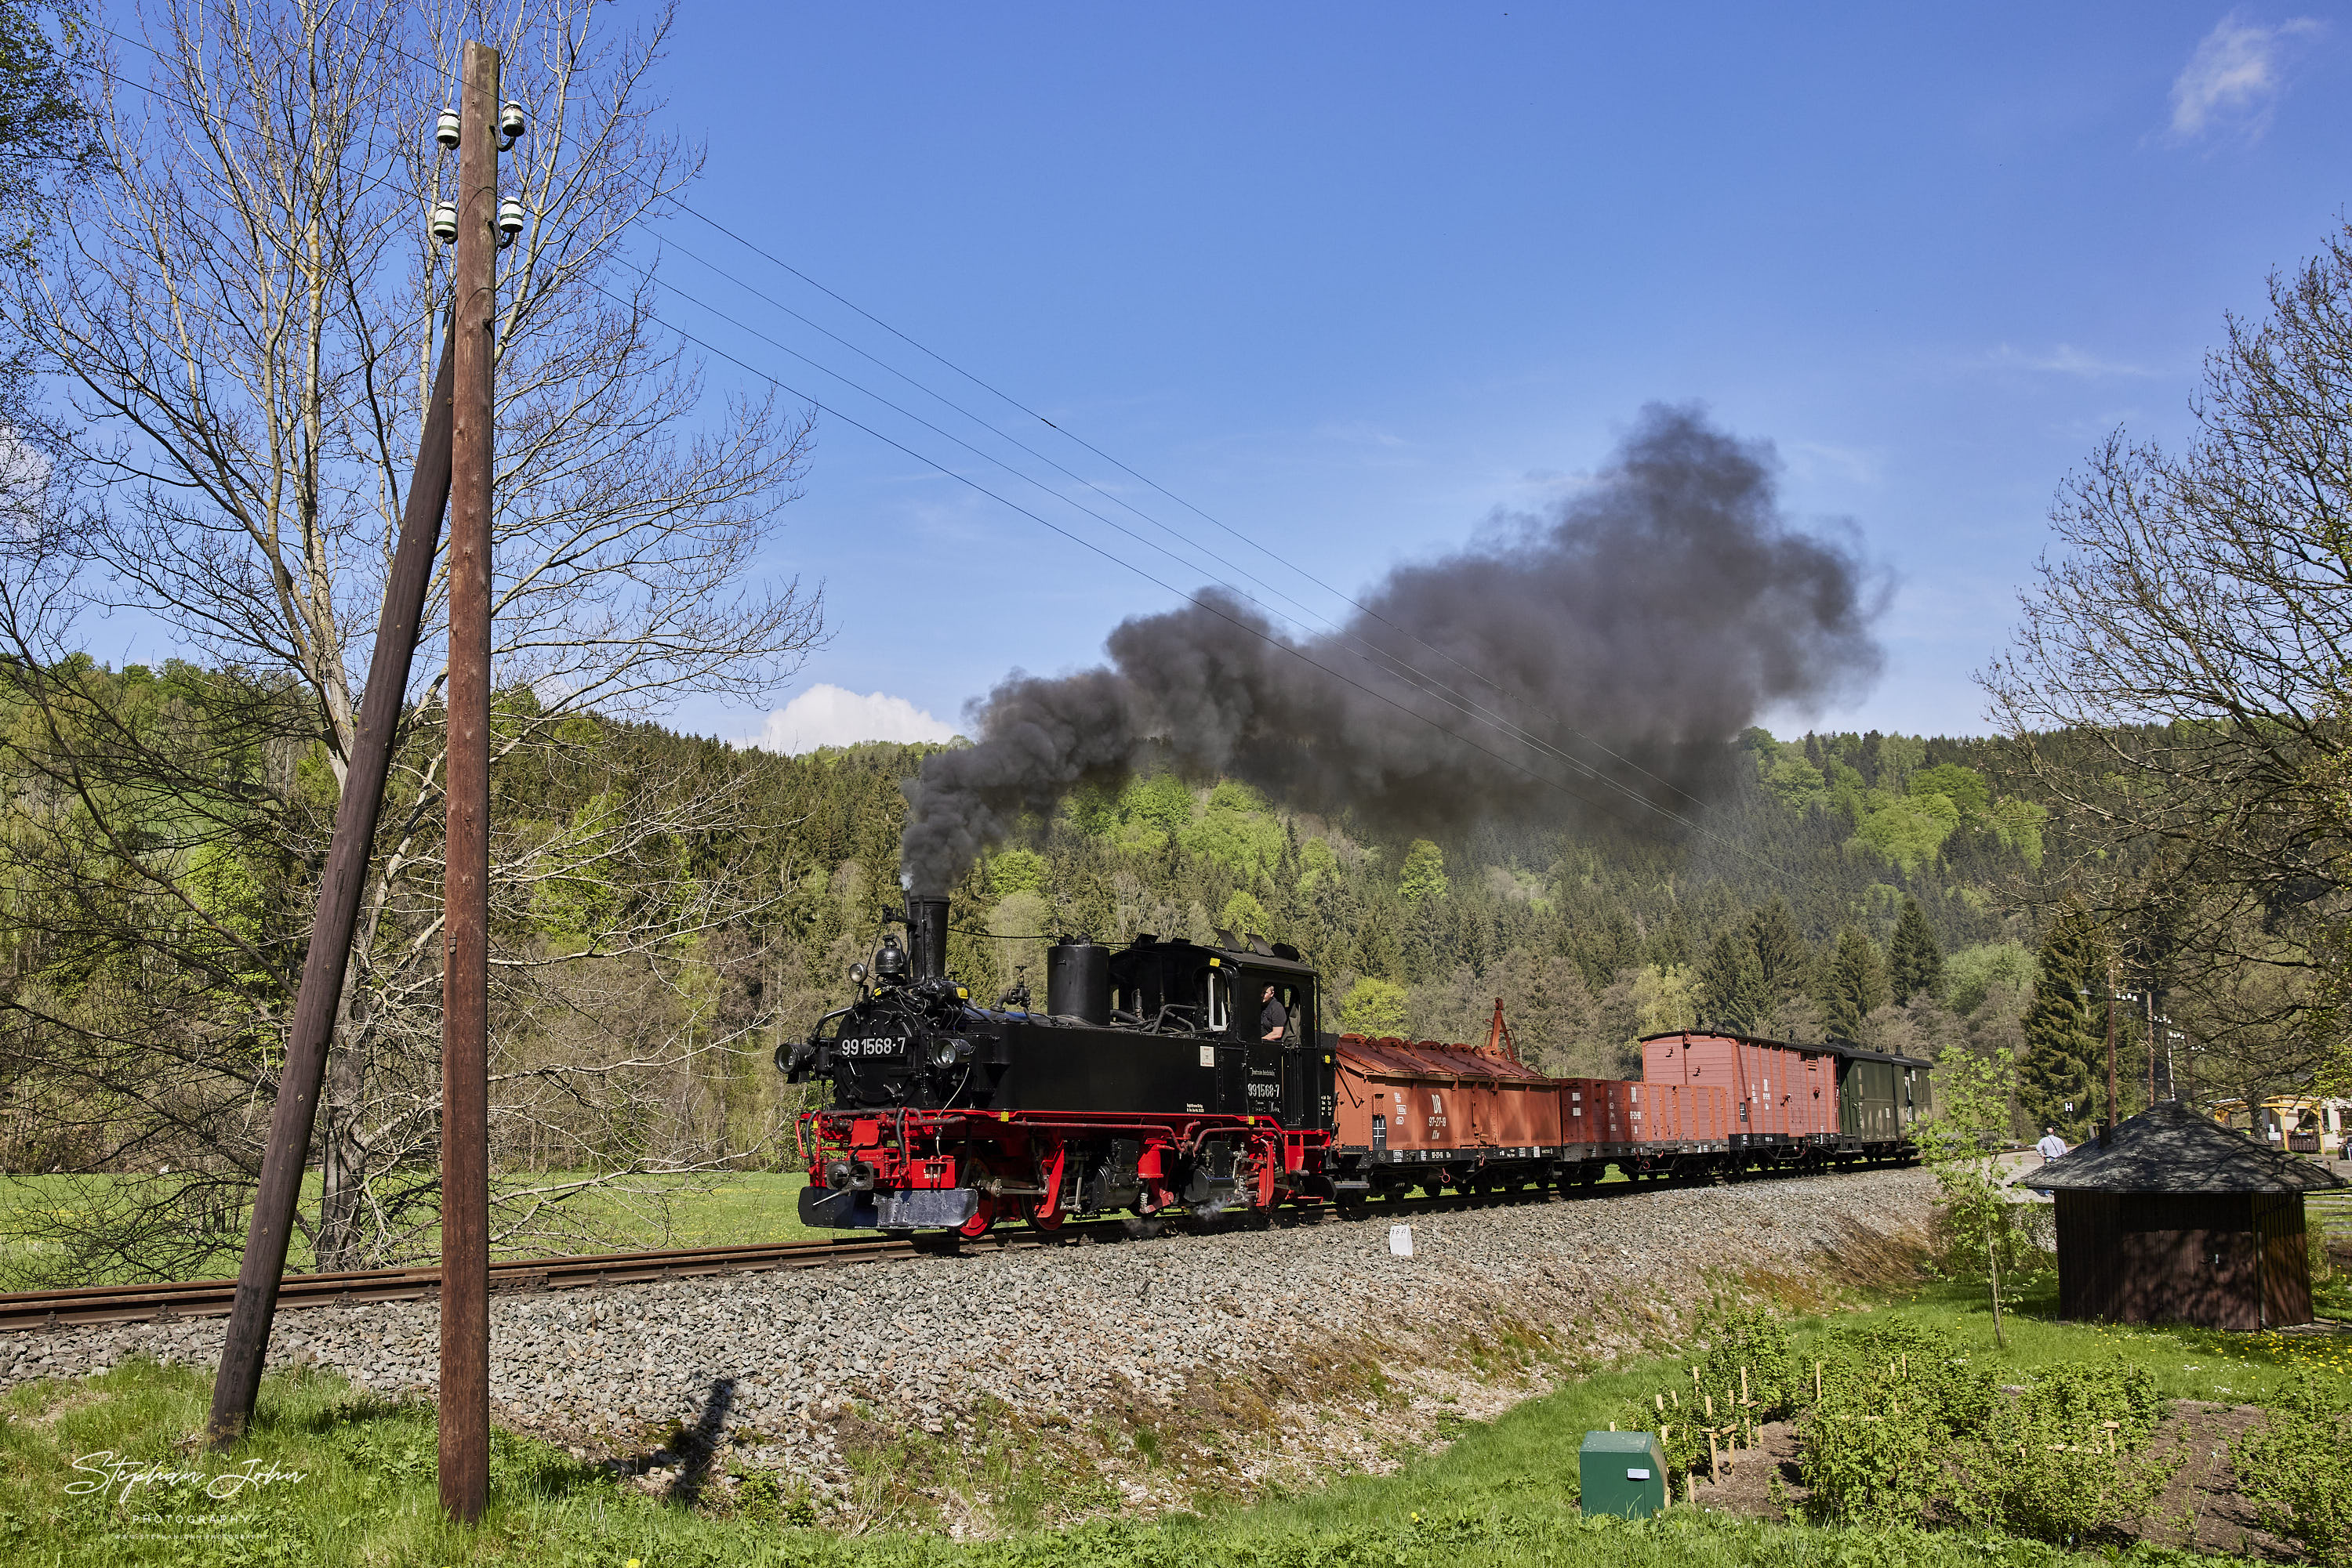
[[[2303,1194],[2345,1182],[2157,1105],[2016,1185],[2058,1201],[2058,1316],[2256,1331],[2312,1321]]]

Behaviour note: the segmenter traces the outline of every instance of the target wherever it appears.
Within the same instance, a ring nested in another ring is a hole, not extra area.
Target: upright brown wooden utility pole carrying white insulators
[[[442,882],[440,1493],[489,1505],[489,477],[499,52],[459,85],[456,364],[449,489],[449,835]]]

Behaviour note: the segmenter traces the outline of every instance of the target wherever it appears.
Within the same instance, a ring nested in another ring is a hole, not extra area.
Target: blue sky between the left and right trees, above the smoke
[[[1983,729],[1969,672],[2056,487],[2114,425],[2187,430],[2225,313],[2343,221],[2352,172],[2352,16],[2312,5],[701,5],[663,82],[708,141],[701,212],[1336,588],[1576,484],[1644,402],[1703,402],[1776,444],[1790,515],[1851,527],[1898,581],[1886,675],[1816,715],[1835,729]],[[1331,604],[767,261],[668,233]],[[1075,489],[696,259],[666,277]],[[833,642],[776,698],[840,689],[783,724],[802,743],[903,731],[908,705],[953,724],[1007,670],[1091,663],[1174,602],[840,416],[764,569],[826,588]]]

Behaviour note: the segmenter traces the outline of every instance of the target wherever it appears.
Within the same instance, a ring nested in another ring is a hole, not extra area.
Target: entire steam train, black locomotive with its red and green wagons
[[[948,900],[913,898],[858,999],[776,1067],[833,1084],[800,1119],[814,1227],[983,1234],[1070,1215],[1263,1213],[1425,1192],[1818,1171],[1917,1157],[1929,1063],[1722,1032],[1658,1034],[1644,1079],[1555,1079],[1496,1004],[1484,1046],[1331,1034],[1287,943],[1084,936],[1047,1004],[946,973]]]

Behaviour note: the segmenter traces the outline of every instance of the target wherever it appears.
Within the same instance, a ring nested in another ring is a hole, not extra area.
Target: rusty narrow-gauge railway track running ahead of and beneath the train
[[[1604,1199],[1618,1192],[1651,1192],[1665,1187],[1661,1180],[1606,1182],[1585,1187],[1569,1197],[1550,1190],[1512,1190],[1444,1197],[1388,1197],[1374,1199],[1352,1211],[1329,1206],[1282,1208],[1261,1222],[1322,1225],[1345,1218],[1411,1215],[1411,1213],[1458,1213],[1465,1208],[1496,1208],[1505,1204],[1562,1204]],[[1691,1185],[1677,1180],[1672,1185]],[[1181,1222],[1183,1229],[1209,1232],[1232,1229],[1247,1218],[1228,1215],[1223,1222]],[[489,1265],[492,1295],[529,1295],[539,1291],[593,1291],[600,1286],[635,1286],[663,1279],[706,1279],[713,1274],[760,1274],[774,1269],[830,1269],[851,1262],[896,1262],[906,1258],[936,1258],[941,1253],[981,1255],[1037,1246],[1080,1246],[1089,1241],[1127,1241],[1134,1232],[1124,1220],[1073,1220],[1058,1229],[1040,1232],[1002,1225],[985,1237],[962,1239],[953,1234],[906,1237],[851,1237],[842,1241],[757,1241],[750,1246],[682,1246],[654,1253],[597,1253],[590,1258],[501,1258]],[[1150,1229],[1145,1234],[1160,1234]],[[38,1328],[80,1328],[92,1324],[165,1324],[191,1316],[228,1316],[238,1295],[235,1279],[193,1279],[172,1284],[136,1286],[85,1286],[68,1291],[19,1291],[0,1293],[0,1333]],[[353,1269],[346,1274],[287,1274],[278,1286],[278,1305],[289,1307],[360,1307],[369,1302],[405,1302],[440,1295],[437,1267],[412,1269]]]

